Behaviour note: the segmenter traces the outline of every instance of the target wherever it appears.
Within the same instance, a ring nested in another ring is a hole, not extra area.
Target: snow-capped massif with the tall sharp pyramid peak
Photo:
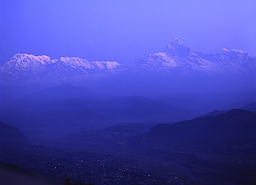
[[[256,68],[256,58],[236,49],[221,49],[216,55],[191,51],[175,37],[164,52],[137,58],[126,68],[130,70],[168,71],[182,73],[247,73]]]

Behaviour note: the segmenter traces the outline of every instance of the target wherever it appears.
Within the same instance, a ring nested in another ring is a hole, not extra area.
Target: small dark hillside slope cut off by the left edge
[[[0,143],[26,143],[29,139],[17,127],[0,121]]]

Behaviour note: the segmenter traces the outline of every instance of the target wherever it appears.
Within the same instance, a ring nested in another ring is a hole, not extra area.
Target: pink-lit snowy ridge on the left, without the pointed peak
[[[4,83],[72,82],[106,76],[119,65],[116,61],[87,61],[78,57],[51,60],[46,55],[16,54],[0,67],[0,76]]]

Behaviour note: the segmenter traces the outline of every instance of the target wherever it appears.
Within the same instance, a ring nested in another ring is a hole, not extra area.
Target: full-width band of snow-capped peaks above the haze
[[[236,49],[221,49],[216,55],[194,52],[175,37],[163,52],[148,54],[122,65],[116,61],[87,61],[78,57],[51,60],[46,55],[16,54],[0,66],[0,82],[61,84],[104,79],[122,72],[162,71],[177,78],[198,72],[246,75],[255,73],[256,58]]]

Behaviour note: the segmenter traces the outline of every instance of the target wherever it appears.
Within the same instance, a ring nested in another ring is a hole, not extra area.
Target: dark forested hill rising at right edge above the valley
[[[159,124],[148,131],[148,139],[183,146],[255,146],[255,132],[256,114],[243,109],[232,109],[222,115],[172,125]]]

